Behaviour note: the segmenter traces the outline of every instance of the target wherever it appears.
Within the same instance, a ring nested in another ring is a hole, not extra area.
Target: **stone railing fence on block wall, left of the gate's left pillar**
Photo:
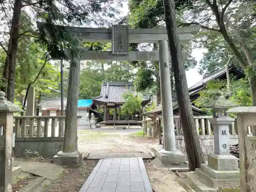
[[[26,157],[29,150],[52,158],[62,150],[64,127],[65,116],[15,116],[15,156]]]

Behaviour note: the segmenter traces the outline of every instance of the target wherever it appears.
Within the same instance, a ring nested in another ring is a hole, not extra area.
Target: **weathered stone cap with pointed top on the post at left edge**
[[[5,98],[5,92],[0,92],[0,112],[24,112],[19,106],[13,104],[11,101],[7,101]]]

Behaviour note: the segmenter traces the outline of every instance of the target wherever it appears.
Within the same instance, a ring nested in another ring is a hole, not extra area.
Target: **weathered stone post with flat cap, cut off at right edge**
[[[239,159],[240,159],[240,191],[256,190],[256,136],[247,135],[248,126],[256,125],[256,107],[241,106],[226,112],[237,115]]]

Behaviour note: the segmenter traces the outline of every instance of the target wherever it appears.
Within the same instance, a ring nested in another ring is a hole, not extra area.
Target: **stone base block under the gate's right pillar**
[[[165,151],[160,150],[157,152],[157,158],[163,163],[185,163],[186,157],[179,150],[176,151]]]

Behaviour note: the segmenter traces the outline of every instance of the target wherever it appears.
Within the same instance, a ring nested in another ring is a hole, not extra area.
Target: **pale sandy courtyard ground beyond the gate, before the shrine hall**
[[[78,130],[78,150],[81,153],[149,153],[154,141],[140,130]]]

